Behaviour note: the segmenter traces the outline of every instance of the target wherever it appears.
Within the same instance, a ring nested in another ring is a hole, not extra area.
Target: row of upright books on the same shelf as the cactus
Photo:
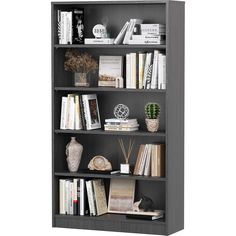
[[[68,94],[62,97],[60,129],[99,128],[101,122],[96,94]]]

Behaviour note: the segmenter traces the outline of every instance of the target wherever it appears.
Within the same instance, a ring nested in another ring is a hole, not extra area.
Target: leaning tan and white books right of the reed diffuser
[[[164,144],[141,144],[134,175],[153,177],[165,176],[165,145]]]

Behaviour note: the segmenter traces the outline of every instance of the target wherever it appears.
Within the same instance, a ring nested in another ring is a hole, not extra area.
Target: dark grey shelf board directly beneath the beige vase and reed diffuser
[[[101,178],[101,179],[135,179],[135,180],[148,180],[148,181],[166,181],[166,178],[151,177],[151,176],[136,176],[136,175],[122,175],[122,174],[97,174],[97,173],[71,173],[71,172],[55,172],[55,176],[71,177],[71,178]]]

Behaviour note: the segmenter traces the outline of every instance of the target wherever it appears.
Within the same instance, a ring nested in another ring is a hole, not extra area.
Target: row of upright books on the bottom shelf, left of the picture
[[[59,213],[81,216],[107,213],[103,180],[60,179]]]

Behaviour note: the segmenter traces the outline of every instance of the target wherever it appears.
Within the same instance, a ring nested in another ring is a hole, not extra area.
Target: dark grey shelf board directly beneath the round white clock
[[[132,48],[154,48],[154,49],[166,49],[166,45],[159,44],[141,44],[141,45],[125,45],[125,44],[55,44],[54,47],[58,48],[103,48],[103,49],[132,49]]]

